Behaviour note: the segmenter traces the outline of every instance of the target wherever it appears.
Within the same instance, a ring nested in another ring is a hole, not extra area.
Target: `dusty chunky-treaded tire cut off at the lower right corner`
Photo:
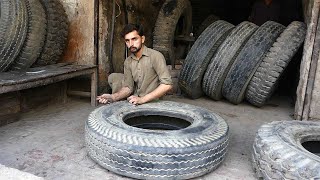
[[[263,125],[253,144],[252,162],[258,178],[319,179],[320,154],[303,143],[320,143],[320,122],[276,121]]]

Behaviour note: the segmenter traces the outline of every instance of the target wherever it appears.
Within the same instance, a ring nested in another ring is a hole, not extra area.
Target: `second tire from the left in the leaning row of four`
[[[234,59],[257,28],[257,25],[244,21],[223,41],[203,77],[202,90],[206,95],[214,100],[221,99],[222,85]]]

